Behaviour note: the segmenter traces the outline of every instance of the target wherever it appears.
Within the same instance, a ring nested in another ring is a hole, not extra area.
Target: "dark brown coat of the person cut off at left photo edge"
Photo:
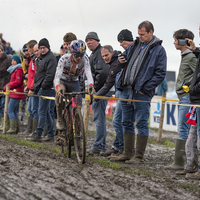
[[[10,67],[10,59],[7,58],[6,53],[2,53],[0,57],[0,90],[10,81],[10,73],[7,71]],[[0,97],[3,94],[0,94]]]

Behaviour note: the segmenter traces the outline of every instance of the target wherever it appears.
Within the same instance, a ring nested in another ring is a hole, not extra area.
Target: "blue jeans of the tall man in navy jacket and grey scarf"
[[[130,94],[130,88],[125,88],[122,92],[122,98],[128,99]],[[147,102],[130,102],[122,101],[122,125],[124,133],[135,133],[134,122],[137,121],[136,127],[138,135],[149,136],[149,111],[151,98],[145,94],[140,94],[136,90],[133,90],[133,99],[149,101]]]

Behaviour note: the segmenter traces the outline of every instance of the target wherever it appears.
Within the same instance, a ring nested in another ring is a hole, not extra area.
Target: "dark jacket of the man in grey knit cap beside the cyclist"
[[[90,56],[90,66],[94,80],[94,89],[98,92],[103,87],[109,74],[109,65],[104,62],[101,56],[100,44]]]

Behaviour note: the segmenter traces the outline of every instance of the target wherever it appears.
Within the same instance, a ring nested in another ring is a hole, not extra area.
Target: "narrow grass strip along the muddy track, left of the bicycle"
[[[4,134],[0,134],[0,138],[14,142],[14,143],[19,144],[19,145],[27,146],[27,147],[30,147],[30,148],[44,149],[44,150],[47,150],[47,151],[50,151],[50,152],[53,152],[53,153],[61,153],[61,150],[59,148],[48,147],[44,144],[39,144],[37,142],[31,142],[31,141],[19,139],[19,138],[4,135]]]

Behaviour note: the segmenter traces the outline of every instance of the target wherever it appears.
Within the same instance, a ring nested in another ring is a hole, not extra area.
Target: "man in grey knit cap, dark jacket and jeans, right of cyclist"
[[[88,48],[92,51],[90,56],[91,72],[94,80],[94,89],[98,92],[106,82],[109,74],[109,65],[107,65],[101,56],[101,45],[99,37],[95,32],[89,32],[85,38]],[[106,96],[113,93],[108,92]],[[100,99],[92,103],[93,120],[96,124],[96,139],[93,147],[88,151],[89,154],[106,151],[106,116],[105,110],[108,100]]]

